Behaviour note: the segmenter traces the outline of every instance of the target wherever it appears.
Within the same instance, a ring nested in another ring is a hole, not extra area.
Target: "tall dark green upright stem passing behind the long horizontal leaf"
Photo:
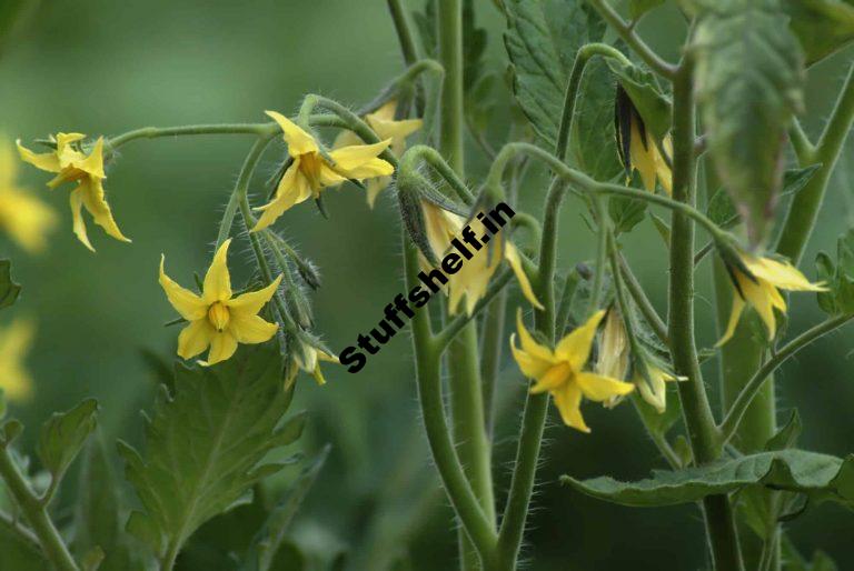
[[[673,87],[673,197],[694,204],[696,161],[694,154],[693,66],[681,64]],[[694,339],[694,224],[686,212],[673,212],[671,223],[671,284],[668,329],[671,354],[679,382],[679,399],[694,460],[705,464],[721,454],[719,438],[708,403]],[[743,571],[735,519],[726,495],[703,501],[708,544],[716,571]]]

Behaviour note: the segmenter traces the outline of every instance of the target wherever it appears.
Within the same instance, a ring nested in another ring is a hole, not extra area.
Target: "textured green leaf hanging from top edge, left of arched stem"
[[[538,142],[552,151],[575,54],[602,40],[605,26],[580,0],[506,0],[504,8],[514,96]]]

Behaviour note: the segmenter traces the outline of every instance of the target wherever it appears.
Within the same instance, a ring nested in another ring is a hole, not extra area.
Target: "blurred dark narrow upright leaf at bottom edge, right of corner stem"
[[[83,449],[71,547],[79,555],[100,548],[103,561],[100,562],[99,571],[139,569],[121,530],[121,509],[113,468],[107,457],[103,439],[96,434]]]

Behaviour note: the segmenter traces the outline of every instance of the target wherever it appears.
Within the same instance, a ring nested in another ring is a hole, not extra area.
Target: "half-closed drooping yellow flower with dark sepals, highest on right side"
[[[626,178],[629,178],[632,171],[636,170],[640,173],[640,180],[646,190],[655,192],[657,180],[667,196],[673,194],[671,167],[662,156],[652,132],[644,124],[632,98],[619,86],[617,86],[615,101],[614,122],[617,128],[617,150],[626,169]],[[673,141],[669,134],[661,141],[661,147],[667,157],[673,157]]]

